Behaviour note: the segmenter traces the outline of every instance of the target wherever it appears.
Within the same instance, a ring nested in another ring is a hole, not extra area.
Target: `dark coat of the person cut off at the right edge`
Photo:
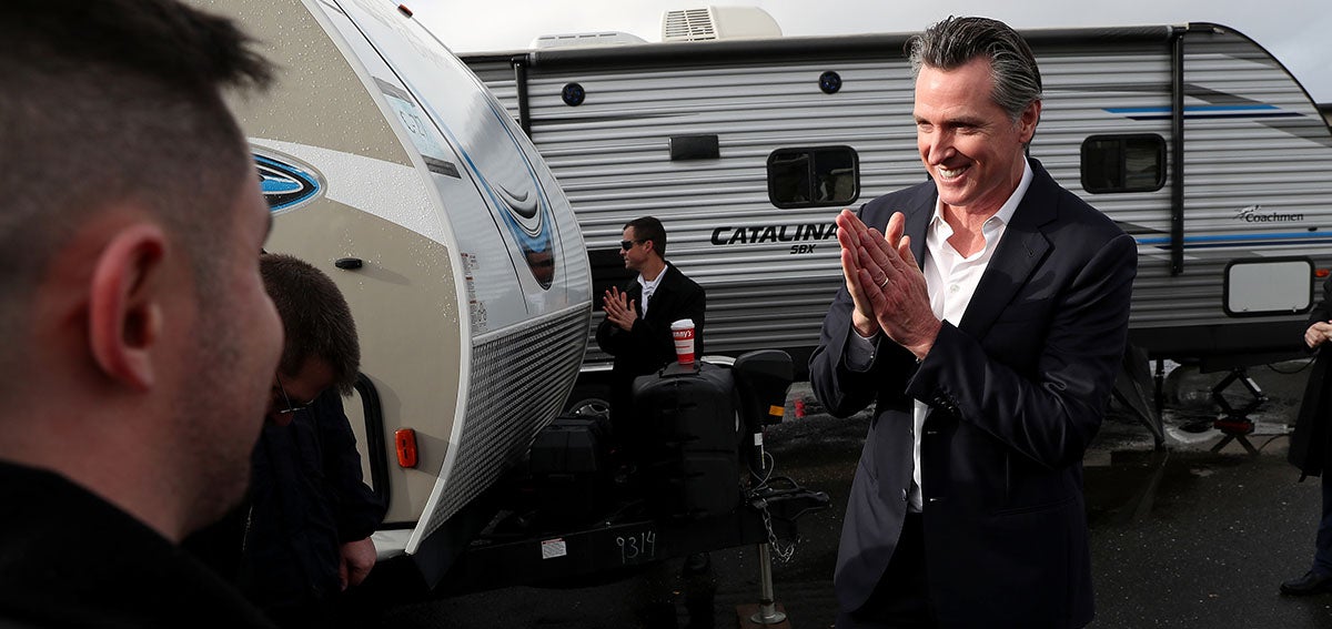
[[[1332,277],[1323,283],[1323,301],[1309,312],[1305,329],[1329,318],[1332,318]],[[1300,469],[1300,480],[1305,476],[1323,476],[1328,454],[1332,452],[1332,430],[1328,429],[1328,413],[1332,413],[1332,382],[1328,382],[1332,342],[1324,342],[1311,352],[1317,357],[1304,386],[1300,414],[1295,420],[1291,448],[1287,450],[1287,460]]]

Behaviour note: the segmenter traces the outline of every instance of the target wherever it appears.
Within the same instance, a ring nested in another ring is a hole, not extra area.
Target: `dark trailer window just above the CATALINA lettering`
[[[767,199],[778,208],[846,205],[860,196],[851,147],[779,148],[767,156]]]

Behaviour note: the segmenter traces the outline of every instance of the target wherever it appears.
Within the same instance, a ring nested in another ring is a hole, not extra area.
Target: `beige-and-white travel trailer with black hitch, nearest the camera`
[[[779,352],[681,368],[655,389],[674,438],[713,429],[711,449],[677,448],[654,468],[665,482],[713,461],[711,476],[682,482],[690,493],[607,489],[601,424],[557,418],[591,318],[579,227],[522,129],[406,7],[190,1],[240,20],[280,67],[272,93],[232,105],[273,212],[266,248],[326,271],[356,316],[362,373],[348,414],[389,505],[374,533],[382,566],[362,585],[372,596],[566,580],[743,544],[766,565],[766,544],[827,506],[794,482],[737,490],[739,454],[762,472],[757,437],[781,416],[791,365]],[[679,393],[702,382],[717,397],[706,408]],[[505,521],[514,505],[527,509],[519,526]],[[494,526],[505,530],[484,530]]]

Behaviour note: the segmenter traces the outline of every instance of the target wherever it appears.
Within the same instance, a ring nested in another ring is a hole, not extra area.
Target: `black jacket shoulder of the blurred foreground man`
[[[63,476],[0,461],[0,626],[273,626],[189,553]]]

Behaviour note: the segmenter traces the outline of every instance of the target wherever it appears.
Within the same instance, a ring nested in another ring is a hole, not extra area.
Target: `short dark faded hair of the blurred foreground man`
[[[0,344],[52,252],[116,204],[161,223],[200,303],[221,299],[218,235],[257,176],[221,89],[270,77],[230,20],[174,0],[0,1]]]

